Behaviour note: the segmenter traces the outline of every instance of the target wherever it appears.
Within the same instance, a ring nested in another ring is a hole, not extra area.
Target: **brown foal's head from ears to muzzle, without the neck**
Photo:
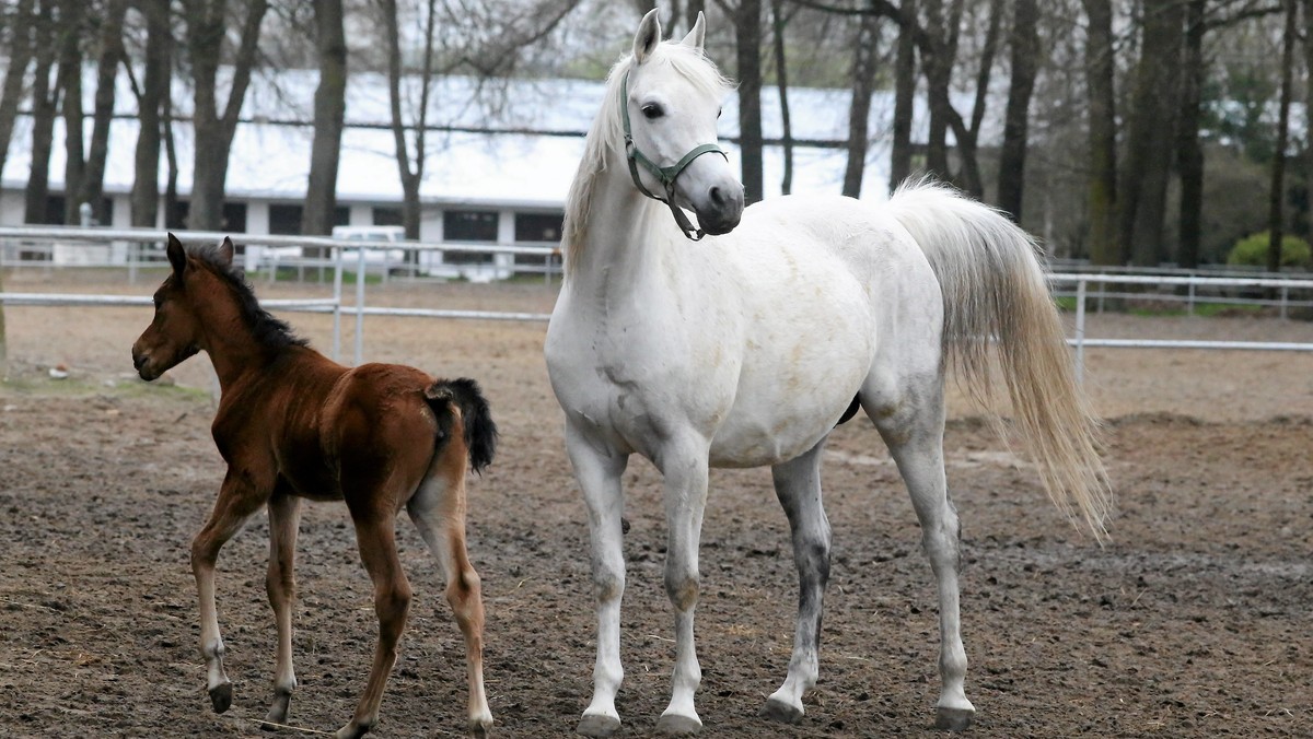
[[[155,318],[133,344],[133,366],[142,379],[151,381],[201,350],[201,319],[196,306],[205,299],[200,282],[202,273],[196,257],[189,256],[173,234],[168,235],[168,261],[172,272],[155,290]],[[227,238],[215,249],[213,260],[232,263],[232,242]]]

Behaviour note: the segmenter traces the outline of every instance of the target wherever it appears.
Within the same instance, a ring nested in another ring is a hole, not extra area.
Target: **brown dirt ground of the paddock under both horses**
[[[131,293],[100,278],[7,274],[11,291]],[[370,303],[548,311],[541,284],[372,286]],[[319,289],[259,285],[263,297]],[[9,307],[0,385],[0,725],[13,736],[268,736],[273,622],[261,517],[219,559],[232,710],[210,711],[188,545],[223,466],[209,438],[205,357],[173,386],[131,375],[148,308]],[[318,347],[324,315],[286,314]],[[344,347],[351,348],[351,322]],[[478,378],[502,428],[470,486],[470,553],[488,613],[486,676],[504,736],[565,736],[591,694],[587,532],[541,358],[545,324],[366,319],[369,360]],[[1313,341],[1313,324],[1092,316],[1090,336]],[[962,521],[966,690],[976,736],[1313,735],[1313,357],[1088,352],[1119,496],[1112,543],[1075,532],[1027,463],[952,403],[948,475]],[[63,364],[71,377],[50,379]],[[826,454],[834,567],[821,685],[796,727],[756,717],[783,680],[796,575],[765,470],[714,471],[697,608],[708,736],[928,736],[936,601],[906,492],[869,424]],[[671,609],[660,584],[658,476],[626,474],[624,735],[668,700]],[[463,728],[463,650],[436,563],[398,524],[416,592],[378,736]],[[291,722],[331,731],[374,641],[345,511],[301,526]],[[284,735],[291,736],[288,730]]]

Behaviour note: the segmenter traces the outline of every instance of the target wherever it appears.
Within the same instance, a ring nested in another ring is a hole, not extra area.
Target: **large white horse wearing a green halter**
[[[678,646],[658,727],[701,727],[693,605],[712,466],[771,466],[801,593],[788,676],[763,713],[801,719],[817,683],[830,571],[822,448],[857,406],[907,484],[939,585],[936,722],[965,728],[974,707],[962,686],[957,513],[944,482],[945,365],[985,394],[997,347],[1015,425],[1053,500],[1096,538],[1111,505],[1096,423],[1035,244],[997,211],[926,182],[882,206],[817,196],[744,210],[742,186],[708,144],[729,85],[702,53],[702,18],[681,42],[660,37],[653,11],[633,55],[612,70],[588,133],[545,349],[592,538],[597,660],[579,732],[620,727],[621,474],[635,453],[664,478],[668,524],[664,583]],[[674,222],[650,198],[670,201]],[[713,238],[692,240],[701,234],[681,209]]]

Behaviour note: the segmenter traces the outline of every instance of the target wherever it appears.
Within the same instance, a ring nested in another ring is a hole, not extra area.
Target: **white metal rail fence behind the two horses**
[[[206,231],[179,231],[179,238],[188,243],[218,243],[223,234]],[[13,269],[62,269],[64,266],[110,266],[127,269],[130,284],[137,282],[137,273],[143,266],[158,268],[167,264],[164,257],[164,232],[140,228],[74,228],[74,227],[0,227],[0,268]],[[484,243],[442,243],[424,244],[415,242],[362,242],[340,240],[320,236],[247,236],[238,240],[247,249],[259,249],[247,257],[247,268],[256,270],[297,269],[305,276],[306,269],[332,274],[332,294],[312,299],[263,301],[269,308],[286,311],[332,312],[332,357],[341,354],[341,314],[351,312],[356,318],[355,364],[364,361],[364,333],[366,315],[416,316],[436,319],[481,319],[481,320],[527,320],[545,322],[548,314],[467,311],[442,308],[389,308],[370,307],[365,299],[364,278],[379,273],[386,280],[389,274],[424,278],[425,260],[423,255],[432,252],[477,252],[516,257],[532,256],[534,264],[519,268],[513,259],[509,273],[541,272],[550,282],[559,272],[559,252],[551,247],[523,244]],[[75,256],[77,249],[85,255]],[[295,249],[295,251],[291,251]],[[310,249],[326,252],[328,257],[307,257]],[[402,253],[398,253],[402,252]],[[408,257],[406,252],[416,255]],[[68,255],[59,265],[54,256]],[[251,253],[249,251],[247,252]],[[49,255],[49,256],[42,256]],[[372,256],[373,255],[373,256]],[[381,255],[381,256],[379,256]],[[35,256],[37,259],[25,259]],[[494,264],[498,264],[494,259]],[[428,264],[433,264],[432,260]],[[503,261],[503,264],[506,264]],[[356,276],[355,303],[343,302],[344,274],[352,270]],[[494,277],[499,276],[494,274]],[[1159,349],[1232,349],[1232,350],[1278,350],[1313,352],[1313,344],[1264,343],[1264,341],[1186,341],[1173,339],[1128,340],[1098,339],[1086,335],[1087,306],[1102,310],[1109,299],[1136,301],[1178,301],[1186,310],[1194,312],[1203,302],[1224,305],[1254,305],[1276,307],[1280,316],[1297,308],[1313,310],[1313,278],[1287,278],[1278,276],[1259,277],[1212,277],[1180,273],[1134,274],[1125,272],[1104,273],[1053,273],[1049,276],[1054,293],[1060,297],[1075,298],[1075,329],[1067,343],[1075,350],[1078,377],[1085,373],[1086,348],[1159,348]],[[1074,291],[1064,291],[1060,286],[1074,285]],[[1091,291],[1091,285],[1096,290]],[[1121,286],[1121,291],[1108,286]],[[1183,293],[1178,293],[1183,290]],[[1272,293],[1276,297],[1249,295],[1246,291]],[[131,295],[87,295],[50,293],[0,293],[3,305],[28,306],[148,306],[147,297]]]

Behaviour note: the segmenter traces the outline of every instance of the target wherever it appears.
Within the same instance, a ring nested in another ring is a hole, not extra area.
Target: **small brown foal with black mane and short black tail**
[[[394,521],[404,507],[441,563],[446,600],[465,635],[469,730],[492,725],[483,692],[483,602],[465,551],[465,476],[492,461],[496,427],[471,379],[436,381],[407,366],[330,361],[260,308],[232,268],[232,242],[184,248],[168,236],[172,273],[155,291],[155,319],[133,345],[142,379],[155,379],[206,352],[222,399],[214,441],[228,465],[214,511],[192,542],[201,599],[201,654],[217,713],[232,702],[214,604],[219,547],[263,505],[269,509],[265,588],[278,627],[273,707],[285,723],[297,679],[291,668],[293,562],[301,499],[344,500],[360,558],[374,584],[378,644],[369,681],[339,738],[378,721],[397,662],[411,588],[397,557]]]

